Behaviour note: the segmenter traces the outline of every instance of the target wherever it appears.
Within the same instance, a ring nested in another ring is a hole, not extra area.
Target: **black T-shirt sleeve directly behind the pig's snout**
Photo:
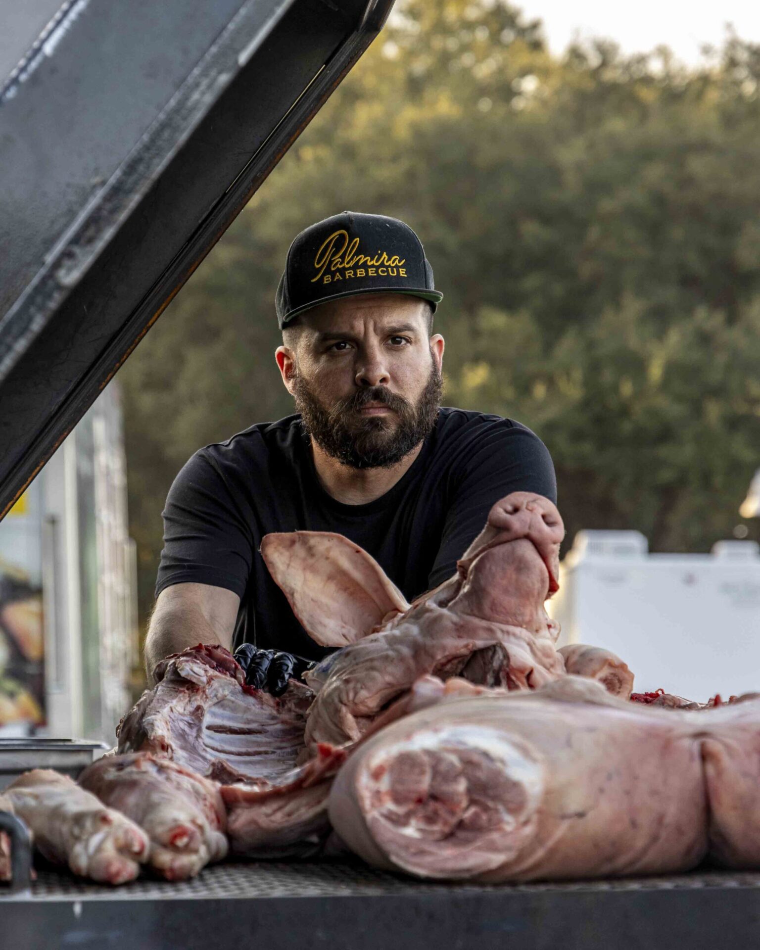
[[[457,561],[483,530],[488,512],[500,498],[513,491],[535,491],[557,504],[557,480],[548,449],[529,428],[508,420],[485,429],[461,464],[454,484],[428,590],[454,574]]]

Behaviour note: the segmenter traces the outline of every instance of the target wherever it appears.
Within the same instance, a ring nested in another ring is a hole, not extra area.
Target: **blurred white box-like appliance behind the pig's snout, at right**
[[[561,563],[549,614],[560,645],[618,654],[637,692],[705,702],[760,692],[760,546],[721,541],[711,554],[650,554],[638,531],[580,531]]]

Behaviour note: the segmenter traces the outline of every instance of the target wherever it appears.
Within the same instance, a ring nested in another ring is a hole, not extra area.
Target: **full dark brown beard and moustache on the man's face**
[[[435,427],[443,393],[443,378],[431,357],[425,389],[412,404],[385,386],[356,390],[325,409],[311,385],[295,371],[295,408],[307,435],[333,459],[352,468],[390,468],[417,447]],[[396,418],[362,417],[368,403],[392,409]]]

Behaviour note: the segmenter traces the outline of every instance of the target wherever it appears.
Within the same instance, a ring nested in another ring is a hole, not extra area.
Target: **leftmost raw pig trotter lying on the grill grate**
[[[33,769],[4,793],[48,861],[110,884],[134,880],[149,843],[140,827],[105,807],[67,775]]]

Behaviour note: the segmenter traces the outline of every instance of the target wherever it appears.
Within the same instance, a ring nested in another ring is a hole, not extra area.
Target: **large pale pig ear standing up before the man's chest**
[[[345,647],[409,609],[377,561],[343,535],[268,534],[261,555],[304,630],[322,646]]]

